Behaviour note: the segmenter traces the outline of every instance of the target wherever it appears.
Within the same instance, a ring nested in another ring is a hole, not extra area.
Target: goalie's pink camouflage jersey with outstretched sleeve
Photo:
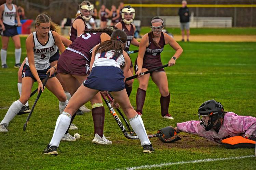
[[[198,134],[217,143],[221,143],[223,139],[244,134],[251,135],[255,140],[256,118],[252,116],[239,116],[233,112],[227,112],[218,133],[214,129],[206,131],[200,125],[199,120],[177,123],[177,129],[190,134]]]

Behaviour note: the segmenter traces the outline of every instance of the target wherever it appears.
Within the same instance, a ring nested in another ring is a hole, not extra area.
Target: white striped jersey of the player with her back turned
[[[124,56],[121,54],[119,57],[114,56],[114,52],[101,52],[95,55],[92,68],[95,66],[114,66],[121,68],[124,65]]]

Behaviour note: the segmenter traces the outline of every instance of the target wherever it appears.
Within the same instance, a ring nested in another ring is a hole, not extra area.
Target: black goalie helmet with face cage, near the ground
[[[221,125],[219,118],[224,117],[223,105],[215,100],[208,100],[199,107],[198,117],[200,125],[202,125],[206,131],[212,128],[217,131]]]

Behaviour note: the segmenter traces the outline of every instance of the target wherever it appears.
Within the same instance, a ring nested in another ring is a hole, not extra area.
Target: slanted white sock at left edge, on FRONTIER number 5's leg
[[[6,124],[8,126],[10,121],[12,121],[17,113],[19,113],[23,106],[24,104],[22,104],[19,100],[13,102],[0,124]]]

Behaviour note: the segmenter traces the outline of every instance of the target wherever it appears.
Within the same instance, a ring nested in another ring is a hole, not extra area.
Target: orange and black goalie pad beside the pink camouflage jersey
[[[255,148],[255,141],[246,139],[242,136],[234,136],[221,140],[221,144],[228,149],[236,148]]]

